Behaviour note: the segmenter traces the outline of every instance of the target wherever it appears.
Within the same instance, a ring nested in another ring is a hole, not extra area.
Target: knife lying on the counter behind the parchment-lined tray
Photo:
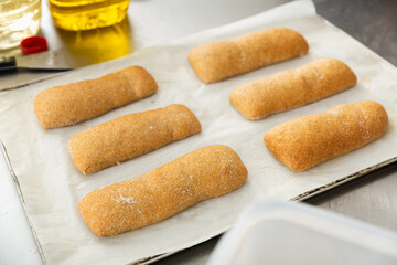
[[[0,71],[14,68],[34,71],[66,71],[92,64],[84,56],[71,53],[67,49],[46,51],[23,56],[1,56]]]

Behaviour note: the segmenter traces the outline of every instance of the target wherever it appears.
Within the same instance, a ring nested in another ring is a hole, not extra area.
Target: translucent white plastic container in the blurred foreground
[[[222,264],[397,264],[397,234],[298,202],[246,211],[212,253]]]

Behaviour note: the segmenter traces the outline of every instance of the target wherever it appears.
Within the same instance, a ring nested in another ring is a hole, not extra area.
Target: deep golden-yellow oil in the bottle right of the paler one
[[[49,0],[56,26],[68,31],[116,24],[127,14],[129,0]]]

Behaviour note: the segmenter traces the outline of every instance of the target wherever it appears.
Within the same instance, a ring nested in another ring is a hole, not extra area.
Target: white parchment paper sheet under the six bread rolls
[[[189,65],[186,55],[195,45],[272,26],[288,26],[302,33],[310,45],[309,54],[212,85],[200,82]],[[357,74],[358,84],[339,95],[259,121],[245,119],[230,106],[228,95],[237,85],[320,57],[336,57],[347,63]],[[76,126],[45,131],[39,125],[33,114],[33,98],[41,91],[99,77],[136,64],[146,67],[157,80],[159,92],[155,95]],[[8,148],[26,214],[46,262],[126,264],[189,247],[224,232],[246,206],[257,200],[288,200],[396,157],[396,87],[397,71],[393,65],[318,17],[310,1],[298,1],[120,60],[3,92],[0,94],[0,137]],[[335,105],[366,99],[383,104],[390,120],[386,134],[371,145],[301,173],[291,172],[265,147],[262,136],[276,125],[325,112]],[[194,112],[202,123],[201,134],[94,174],[83,176],[74,168],[67,150],[67,141],[74,134],[120,115],[173,103],[185,104]],[[96,236],[82,220],[77,204],[89,191],[137,177],[214,144],[230,146],[247,166],[248,180],[238,190],[198,203],[167,221],[112,237]]]

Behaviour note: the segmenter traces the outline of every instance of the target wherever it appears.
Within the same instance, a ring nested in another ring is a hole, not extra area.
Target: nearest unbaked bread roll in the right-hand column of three
[[[264,140],[283,165],[303,171],[377,139],[387,125],[380,104],[361,102],[287,121],[270,129]]]

